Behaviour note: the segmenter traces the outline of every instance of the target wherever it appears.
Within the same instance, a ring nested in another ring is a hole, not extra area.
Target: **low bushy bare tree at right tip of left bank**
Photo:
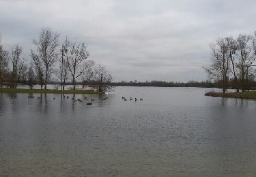
[[[97,90],[99,92],[111,91],[113,86],[111,86],[111,81],[113,80],[113,76],[106,70],[106,68],[102,65],[98,65],[94,71],[95,80],[98,84]]]

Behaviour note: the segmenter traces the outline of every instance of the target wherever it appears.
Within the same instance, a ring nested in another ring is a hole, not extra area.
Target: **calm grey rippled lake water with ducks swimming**
[[[0,176],[256,176],[256,101],[206,91],[1,94]]]

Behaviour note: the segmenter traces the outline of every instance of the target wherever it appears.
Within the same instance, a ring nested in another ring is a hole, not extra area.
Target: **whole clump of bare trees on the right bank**
[[[254,35],[218,38],[210,48],[211,63],[203,68],[211,80],[219,83],[223,93],[228,88],[237,92],[255,88],[256,31]]]

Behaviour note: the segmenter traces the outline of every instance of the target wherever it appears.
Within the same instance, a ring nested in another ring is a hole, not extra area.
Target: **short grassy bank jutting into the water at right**
[[[205,96],[256,99],[256,91],[235,92],[235,93],[214,93],[214,92],[209,92],[209,93],[205,93]]]

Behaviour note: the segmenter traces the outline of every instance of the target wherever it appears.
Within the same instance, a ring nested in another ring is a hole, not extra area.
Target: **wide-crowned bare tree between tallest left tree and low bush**
[[[67,63],[68,69],[72,76],[72,84],[74,90],[76,89],[76,78],[79,78],[83,72],[94,65],[94,61],[88,61],[89,52],[85,43],[77,44],[77,42],[70,42],[66,39],[67,44]]]

